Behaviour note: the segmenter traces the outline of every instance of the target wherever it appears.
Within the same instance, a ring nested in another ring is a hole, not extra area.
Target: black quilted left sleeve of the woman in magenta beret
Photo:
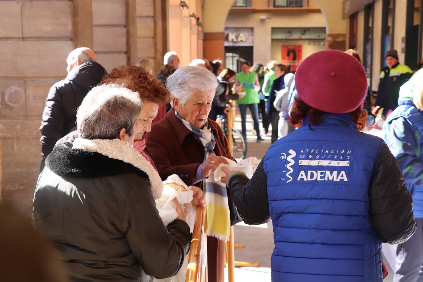
[[[262,224],[270,219],[263,161],[264,158],[258,164],[251,180],[242,172],[232,172],[226,179],[231,199],[239,215],[249,225]]]

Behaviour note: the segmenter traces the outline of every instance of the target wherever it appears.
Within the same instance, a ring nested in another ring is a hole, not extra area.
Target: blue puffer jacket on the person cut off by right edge
[[[395,122],[397,118],[405,118],[407,122]],[[398,107],[388,116],[383,131],[384,139],[397,159],[412,194],[414,217],[423,218],[423,112],[415,107],[412,99],[398,100]],[[395,136],[403,142],[397,142]],[[401,143],[405,143],[405,146]],[[410,144],[417,145],[416,150],[412,150]],[[420,163],[413,162],[415,156],[418,156]]]

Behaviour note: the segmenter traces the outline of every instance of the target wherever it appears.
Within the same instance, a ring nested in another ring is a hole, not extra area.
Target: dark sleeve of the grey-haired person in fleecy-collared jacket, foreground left
[[[190,227],[179,219],[163,224],[148,184],[134,186],[126,199],[122,230],[141,268],[159,279],[176,275],[190,250]]]

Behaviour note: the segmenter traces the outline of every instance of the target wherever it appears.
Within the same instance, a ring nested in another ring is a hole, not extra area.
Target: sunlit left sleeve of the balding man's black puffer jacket
[[[55,85],[50,88],[41,121],[41,154],[46,158],[63,136],[63,99]]]

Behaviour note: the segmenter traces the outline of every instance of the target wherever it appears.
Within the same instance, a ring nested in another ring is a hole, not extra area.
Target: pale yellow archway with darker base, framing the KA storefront
[[[342,1],[315,0],[326,21],[326,47],[345,50],[346,20],[342,19]],[[233,0],[208,0],[203,5],[204,58],[225,57],[225,20]],[[223,11],[223,12],[222,12]]]

